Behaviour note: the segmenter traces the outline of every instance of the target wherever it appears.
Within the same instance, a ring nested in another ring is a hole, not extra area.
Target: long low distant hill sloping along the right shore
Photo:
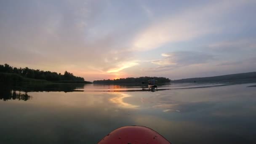
[[[256,79],[256,72],[246,72],[232,75],[221,75],[215,77],[195,77],[181,80],[171,80],[171,83],[193,83],[193,82],[219,82],[230,80]]]

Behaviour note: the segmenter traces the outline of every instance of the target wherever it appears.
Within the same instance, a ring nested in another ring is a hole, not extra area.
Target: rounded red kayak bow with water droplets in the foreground
[[[98,144],[171,144],[151,128],[125,126],[117,128],[105,136]]]

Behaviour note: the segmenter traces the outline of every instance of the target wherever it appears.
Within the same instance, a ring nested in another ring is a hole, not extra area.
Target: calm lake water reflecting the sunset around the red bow
[[[126,125],[173,144],[255,144],[256,83],[0,87],[0,144],[96,144]]]

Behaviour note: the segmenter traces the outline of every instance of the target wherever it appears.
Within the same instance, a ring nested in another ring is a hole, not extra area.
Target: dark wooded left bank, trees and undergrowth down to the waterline
[[[64,75],[57,72],[43,71],[40,69],[29,69],[11,67],[8,64],[0,65],[0,81],[6,81],[10,78],[14,81],[25,81],[28,79],[47,80],[51,82],[86,82],[83,77],[76,77],[72,73],[65,71]],[[28,79],[24,79],[28,78]],[[89,82],[88,82],[89,83]]]

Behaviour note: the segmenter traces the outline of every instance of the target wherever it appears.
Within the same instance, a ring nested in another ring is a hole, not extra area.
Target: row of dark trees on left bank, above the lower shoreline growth
[[[0,72],[20,75],[22,77],[47,80],[47,81],[84,81],[83,77],[76,77],[72,73],[65,71],[64,75],[57,72],[43,71],[40,69],[29,69],[11,67],[9,64],[0,65]]]

